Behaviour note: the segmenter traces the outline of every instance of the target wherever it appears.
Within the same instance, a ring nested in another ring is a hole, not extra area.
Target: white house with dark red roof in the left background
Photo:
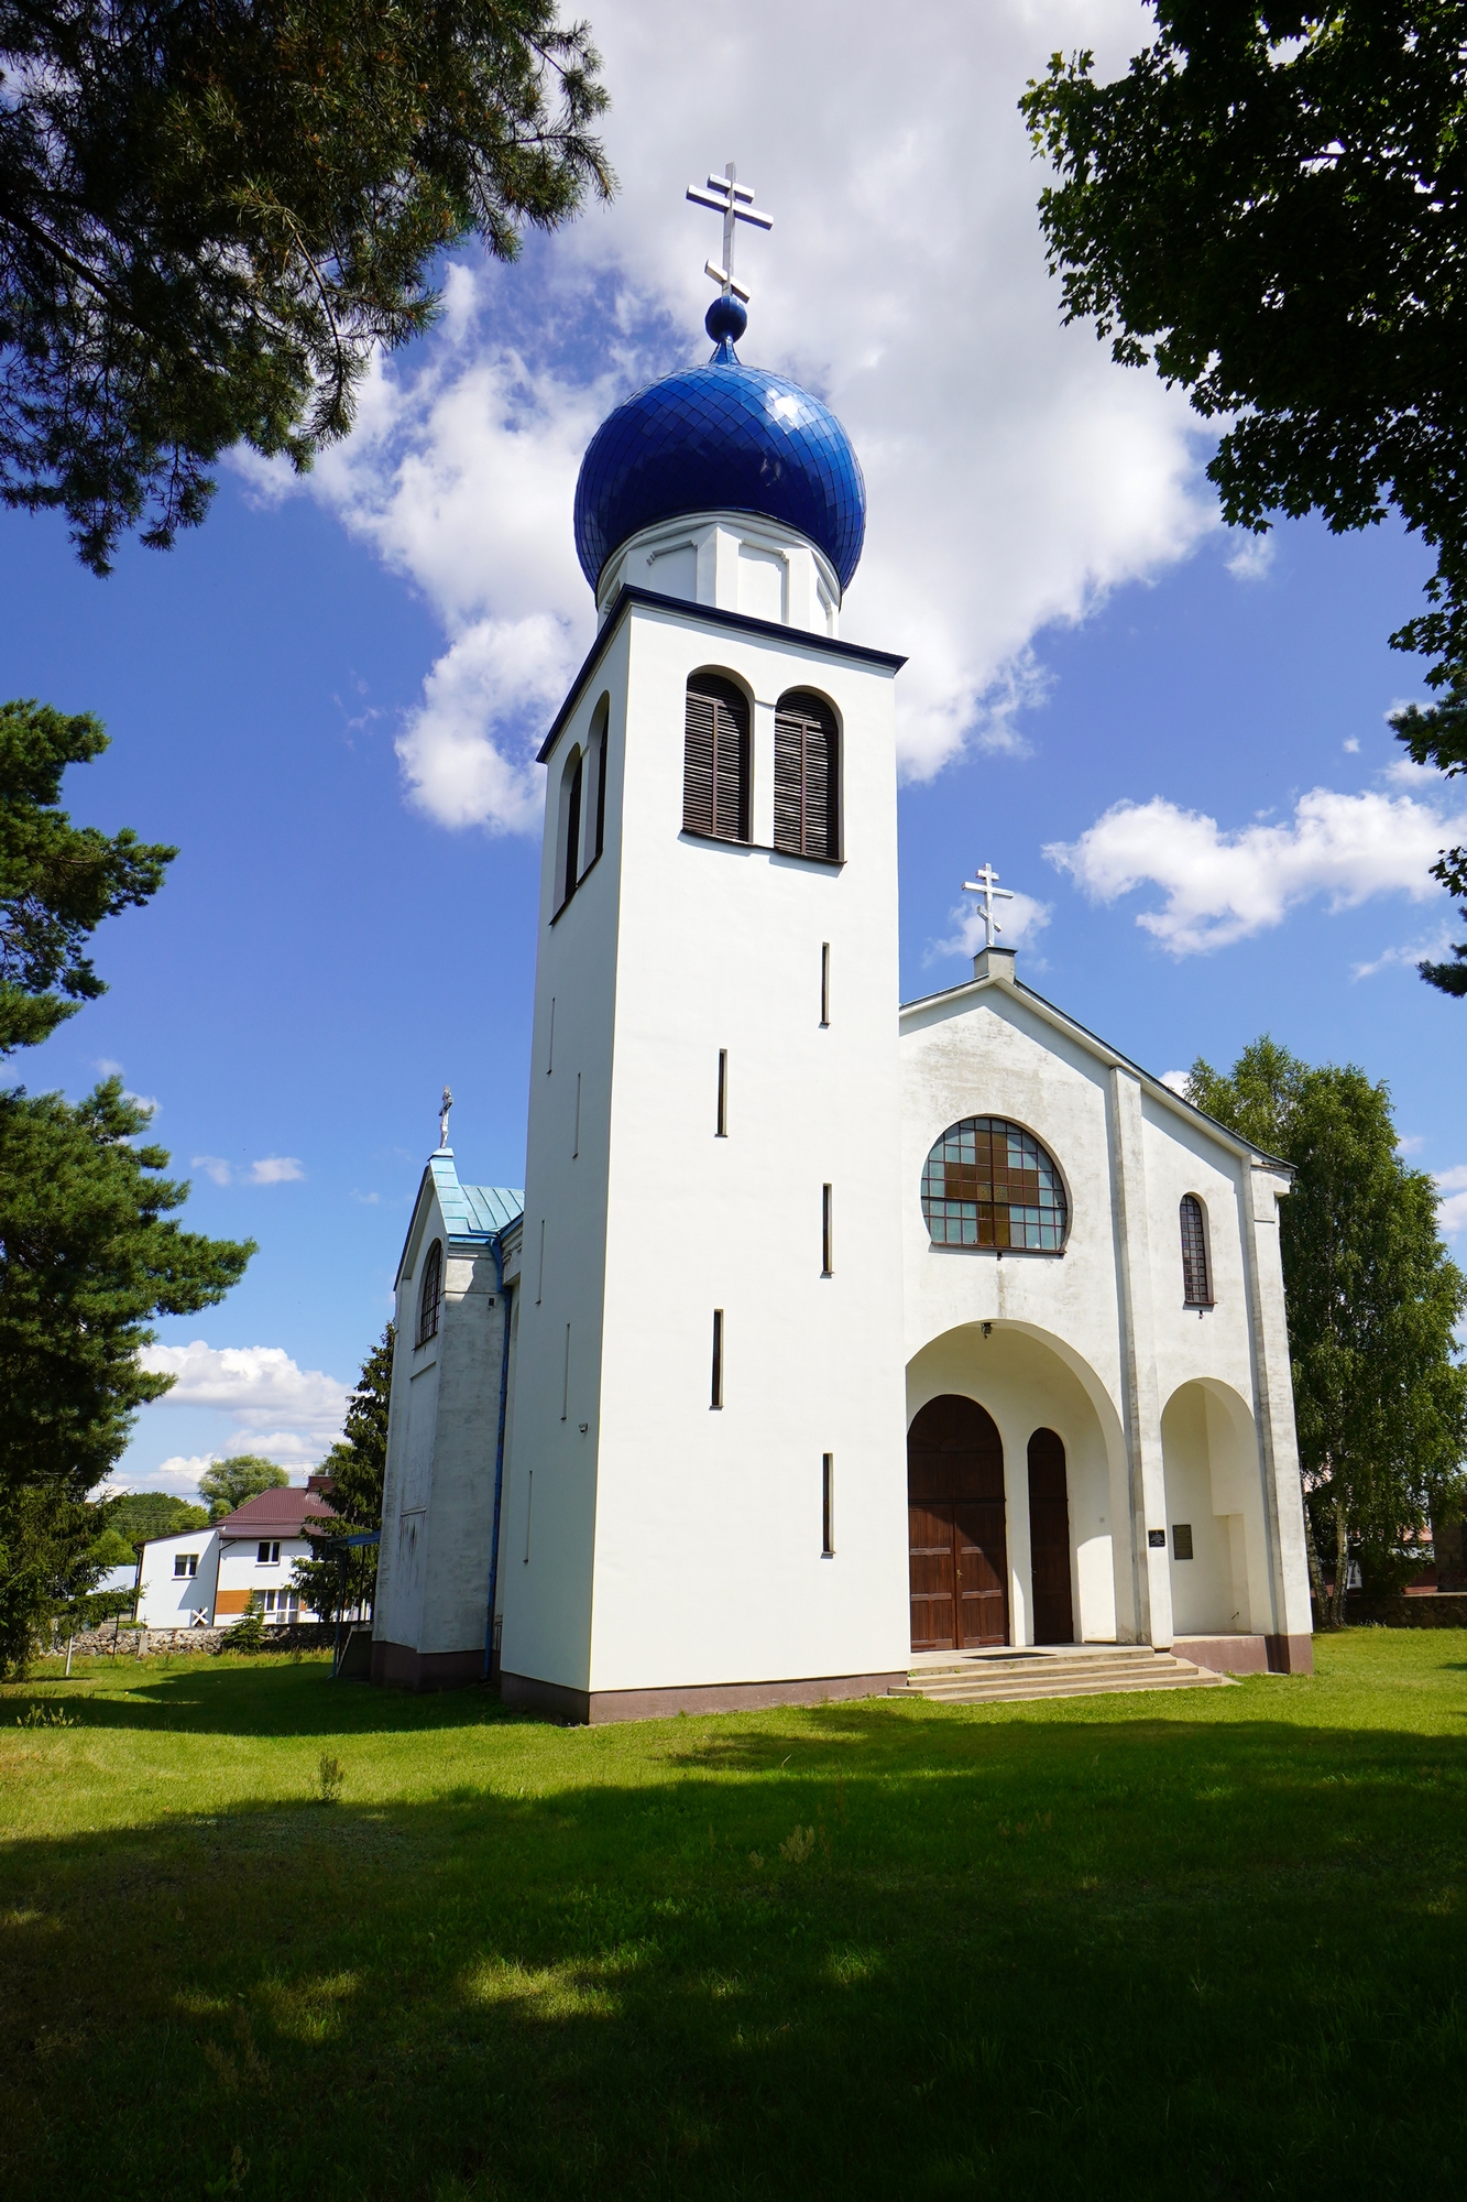
[[[315,1621],[291,1585],[311,1559],[306,1522],[330,1515],[330,1478],[284,1484],[244,1500],[209,1528],[150,1537],[143,1546],[137,1618],[150,1629],[231,1627],[260,1599],[267,1627]]]

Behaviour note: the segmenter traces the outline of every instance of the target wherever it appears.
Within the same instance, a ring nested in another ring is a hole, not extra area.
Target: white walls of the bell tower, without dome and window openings
[[[762,846],[681,832],[698,667],[753,698]],[[769,848],[791,687],[841,722],[844,868]],[[551,755],[551,804],[601,694],[606,852],[553,925],[548,837],[542,872],[502,1663],[593,1691],[892,1671],[908,1656],[892,667],[634,608]]]

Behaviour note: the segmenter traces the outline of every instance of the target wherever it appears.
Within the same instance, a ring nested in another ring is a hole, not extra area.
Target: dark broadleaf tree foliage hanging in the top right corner
[[[1438,700],[1394,727],[1467,768],[1467,24],[1460,0],[1154,0],[1112,84],[1051,57],[1020,108],[1066,319],[1225,421],[1207,473],[1234,526],[1394,506],[1436,553],[1397,650]],[[1467,901],[1467,850],[1436,876]],[[1430,984],[1467,995],[1467,942]]]

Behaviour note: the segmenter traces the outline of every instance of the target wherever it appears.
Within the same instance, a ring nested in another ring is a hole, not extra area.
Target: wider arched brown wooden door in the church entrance
[[[908,1431],[912,1649],[1009,1643],[1004,1447],[993,1416],[958,1392]]]

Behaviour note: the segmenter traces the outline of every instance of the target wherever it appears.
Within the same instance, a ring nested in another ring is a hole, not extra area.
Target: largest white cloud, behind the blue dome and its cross
[[[1216,526],[1181,392],[1060,321],[1015,110],[1053,48],[1095,46],[1104,73],[1150,15],[932,0],[912,37],[874,0],[747,0],[716,66],[696,9],[604,0],[595,31],[619,200],[520,269],[456,266],[436,335],[374,370],[357,434],[304,484],[244,467],[269,495],[324,500],[438,617],[447,647],[399,742],[412,802],[447,826],[537,824],[533,751],[595,630],[570,535],[582,451],[612,403],[707,357],[716,231],[683,189],[729,148],[775,216],[740,240],[742,355],[828,396],[866,469],[841,632],[910,656],[903,771],[1013,746],[1033,636]]]

